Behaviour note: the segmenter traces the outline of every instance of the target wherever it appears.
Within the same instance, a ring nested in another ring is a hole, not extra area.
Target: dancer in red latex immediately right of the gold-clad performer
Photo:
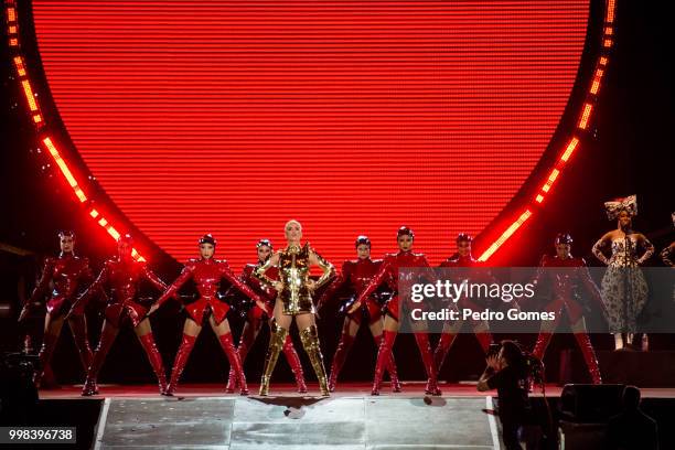
[[[342,265],[342,272],[335,277],[329,288],[323,292],[323,296],[321,296],[321,299],[319,300],[319,309],[321,309],[326,301],[330,301],[331,298],[345,285],[349,285],[351,293],[357,296],[366,288],[375,274],[377,274],[379,270],[382,259],[371,259],[371,239],[368,239],[367,236],[358,236],[356,238],[355,246],[358,259],[344,261]],[[364,320],[367,321],[371,333],[373,334],[373,340],[375,340],[375,344],[379,349],[384,321],[382,306],[376,293],[368,297],[363,302],[360,310],[349,313],[344,318],[342,335],[340,336],[340,342],[338,343],[338,349],[335,350],[335,355],[333,356],[331,375],[329,376],[329,390],[331,392],[335,390],[335,383],[338,382],[340,369],[346,360],[350,349],[356,339],[358,328]],[[399,393],[400,383],[398,381],[396,363],[394,362],[393,354],[392,358],[387,363],[387,371],[392,377],[392,390]]]

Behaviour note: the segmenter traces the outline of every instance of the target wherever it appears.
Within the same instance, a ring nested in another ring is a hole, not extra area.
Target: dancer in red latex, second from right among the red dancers
[[[471,254],[472,240],[473,238],[470,235],[460,233],[457,236],[457,254],[442,261],[440,267],[450,269],[475,267],[479,268],[476,276],[479,278],[482,277],[483,274],[481,274],[480,268],[483,267],[483,265],[473,259],[473,255]],[[467,298],[462,298],[460,300],[460,304],[462,308],[469,308],[473,311],[483,309]],[[448,352],[454,342],[454,338],[457,338],[457,334],[461,331],[462,324],[463,322],[461,320],[456,320],[451,323],[447,322],[443,324],[443,331],[440,340],[438,341],[438,345],[436,346],[436,351],[433,352],[433,364],[438,372],[440,372],[441,366],[443,365],[443,361],[446,360],[446,355],[448,355]],[[490,325],[488,324],[488,321],[474,321],[472,322],[472,326],[475,338],[481,344],[483,352],[488,353],[488,349],[490,349],[490,344],[492,343],[492,334],[490,334]]]

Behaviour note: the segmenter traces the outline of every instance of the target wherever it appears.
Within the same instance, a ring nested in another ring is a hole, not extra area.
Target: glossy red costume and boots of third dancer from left
[[[189,279],[192,279],[199,291],[199,299],[190,304],[185,306],[185,311],[197,324],[202,324],[203,321],[208,317],[208,313],[213,314],[213,319],[216,323],[221,323],[226,319],[227,312],[229,311],[229,304],[221,301],[217,298],[221,279],[226,279],[232,283],[233,287],[238,289],[240,292],[246,294],[254,301],[264,301],[251,288],[239,280],[229,265],[225,260],[216,260],[214,258],[201,258],[191,259],[185,264],[181,275],[173,281],[173,283],[167,289],[167,291],[158,299],[157,304],[161,306],[168,299],[174,297],[178,290]],[[171,395],[178,385],[183,368],[188,363],[188,357],[194,347],[196,336],[191,336],[183,333],[183,340],[179,347],[173,363],[173,371],[171,373],[171,383],[169,385],[168,394]],[[229,366],[234,368],[236,377],[239,381],[242,395],[248,394],[248,387],[246,386],[246,378],[244,376],[244,369],[242,367],[242,360],[237,353],[236,347],[232,339],[232,333],[226,333],[218,336],[221,347],[225,352]]]

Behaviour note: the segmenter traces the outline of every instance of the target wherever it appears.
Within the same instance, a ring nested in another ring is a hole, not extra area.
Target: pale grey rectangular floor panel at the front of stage
[[[108,397],[95,448],[493,449],[486,406],[484,396]]]

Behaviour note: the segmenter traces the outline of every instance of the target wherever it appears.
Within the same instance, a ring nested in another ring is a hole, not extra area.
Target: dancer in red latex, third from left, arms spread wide
[[[262,299],[258,297],[248,286],[243,283],[232,271],[229,265],[225,260],[216,260],[213,258],[215,253],[216,240],[213,236],[205,235],[200,242],[200,259],[191,259],[185,264],[181,275],[173,281],[173,283],[162,293],[157,302],[150,308],[148,312],[151,314],[159,307],[162,306],[167,300],[175,297],[178,290],[188,280],[194,280],[197,291],[199,299],[190,304],[185,306],[188,312],[188,319],[183,326],[183,340],[181,346],[175,355],[173,363],[173,371],[171,372],[171,382],[167,389],[167,395],[173,395],[178,382],[183,373],[188,357],[194,347],[194,342],[197,335],[202,331],[203,324],[207,321],[211,328],[218,336],[218,341],[223,351],[227,355],[229,366],[234,368],[235,374],[239,381],[240,394],[247,395],[248,387],[246,386],[246,378],[244,377],[244,371],[242,369],[242,361],[237,354],[237,350],[234,346],[232,340],[232,333],[229,331],[229,322],[227,322],[227,312],[229,311],[229,304],[221,301],[217,298],[217,291],[221,283],[221,279],[225,278],[239,291],[244,292],[251,300],[254,300],[262,309],[266,308]]]

